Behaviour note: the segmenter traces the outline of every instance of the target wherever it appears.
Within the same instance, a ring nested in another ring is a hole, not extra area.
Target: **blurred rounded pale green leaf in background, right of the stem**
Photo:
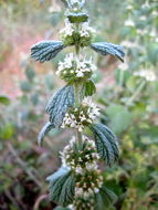
[[[120,134],[127,129],[131,123],[131,115],[125,106],[112,105],[106,108],[106,113],[110,119],[109,127],[112,127],[116,134]]]

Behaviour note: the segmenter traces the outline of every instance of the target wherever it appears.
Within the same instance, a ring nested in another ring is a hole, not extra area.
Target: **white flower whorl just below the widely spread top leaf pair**
[[[96,71],[96,66],[92,63],[92,57],[87,61],[86,59],[75,57],[73,53],[70,53],[63,62],[59,63],[56,75],[84,77],[86,73],[94,71]]]

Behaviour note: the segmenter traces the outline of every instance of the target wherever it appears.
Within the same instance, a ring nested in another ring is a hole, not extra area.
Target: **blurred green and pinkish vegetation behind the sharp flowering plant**
[[[93,53],[98,71],[94,95],[102,123],[117,135],[119,162],[104,169],[105,185],[118,196],[116,210],[158,209],[158,1],[91,0],[95,41],[125,46],[126,60]],[[0,0],[0,210],[52,210],[45,177],[60,166],[70,130],[52,130],[39,147],[44,107],[63,85],[52,62],[30,60],[30,46],[59,39],[64,1]],[[87,51],[92,55],[92,51]]]

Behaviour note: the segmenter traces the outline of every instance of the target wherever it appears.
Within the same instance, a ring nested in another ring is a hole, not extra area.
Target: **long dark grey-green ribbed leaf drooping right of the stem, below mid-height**
[[[119,149],[115,135],[103,124],[92,124],[89,129],[95,137],[95,145],[101,158],[107,166],[112,166],[118,157]]]

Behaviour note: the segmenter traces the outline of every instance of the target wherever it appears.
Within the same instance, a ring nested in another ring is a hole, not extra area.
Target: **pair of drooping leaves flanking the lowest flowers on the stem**
[[[56,210],[69,210],[67,207],[73,202],[75,180],[71,171],[66,167],[61,167],[55,174],[48,177],[50,182],[50,200],[59,206]],[[104,210],[116,202],[116,195],[106,187],[102,187],[95,195],[95,210]]]

